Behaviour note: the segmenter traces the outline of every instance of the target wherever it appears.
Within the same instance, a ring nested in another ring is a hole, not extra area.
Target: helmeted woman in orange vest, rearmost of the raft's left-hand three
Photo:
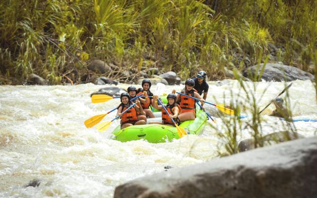
[[[141,106],[143,108],[143,111],[145,112],[146,116],[147,117],[150,117],[150,118],[154,118],[154,114],[152,112],[151,109],[149,109],[150,105],[152,104],[153,102],[153,98],[149,98],[149,96],[153,97],[153,93],[150,91],[150,88],[151,88],[151,81],[149,79],[144,79],[142,81],[142,88],[139,88],[137,90],[137,96],[139,95],[143,95],[145,96],[145,98],[139,98],[140,101],[141,101]]]

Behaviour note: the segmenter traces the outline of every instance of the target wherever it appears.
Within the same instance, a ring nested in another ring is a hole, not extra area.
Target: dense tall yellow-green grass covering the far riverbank
[[[315,0],[2,0],[0,10],[2,84],[30,73],[80,83],[93,59],[182,79],[225,78],[266,55],[313,72],[317,48]]]

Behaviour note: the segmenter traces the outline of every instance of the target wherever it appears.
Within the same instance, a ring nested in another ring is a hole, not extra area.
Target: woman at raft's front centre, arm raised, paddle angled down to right
[[[175,124],[170,120],[172,118],[177,125],[179,125],[180,121],[178,119],[178,114],[181,111],[181,108],[178,104],[176,104],[176,95],[169,94],[167,95],[168,104],[165,105],[166,110],[168,111],[169,115],[166,113],[164,108],[161,105],[158,105],[158,96],[154,96],[154,103],[153,107],[159,110],[162,110],[162,122],[150,122],[149,124],[165,124],[168,126],[175,126]]]

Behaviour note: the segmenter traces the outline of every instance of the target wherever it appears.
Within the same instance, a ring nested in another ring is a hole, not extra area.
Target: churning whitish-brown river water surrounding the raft
[[[209,84],[208,101],[230,103],[231,98],[236,98],[240,103],[247,102],[238,81]],[[246,85],[256,87],[254,94],[262,109],[286,84],[260,82]],[[125,89],[128,86],[119,84]],[[84,126],[86,119],[106,113],[119,104],[118,99],[98,104],[91,102],[90,94],[104,87],[94,84],[0,86],[0,197],[110,198],[116,186],[129,180],[162,172],[164,166],[177,168],[209,161],[223,150],[224,140],[216,135],[225,130],[220,118],[211,124],[217,130],[207,125],[199,136],[187,135],[160,144],[111,140],[111,131],[119,120],[104,133],[96,128],[87,129]],[[166,92],[182,87],[166,86]],[[294,81],[288,94],[295,119],[317,119],[316,90],[310,81]],[[208,104],[205,107],[215,115],[214,107]],[[264,134],[285,130],[284,122],[267,116],[273,109],[270,105],[263,112]],[[104,121],[114,116],[115,112],[112,112]],[[294,124],[299,134],[305,137],[316,135],[317,122]],[[240,131],[238,139],[250,137],[246,129]],[[39,187],[23,187],[33,179],[41,181]]]

